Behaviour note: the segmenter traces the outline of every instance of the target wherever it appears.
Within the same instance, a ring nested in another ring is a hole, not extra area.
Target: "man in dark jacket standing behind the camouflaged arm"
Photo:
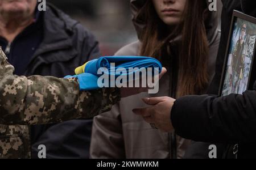
[[[63,78],[100,56],[98,42],[87,29],[51,5],[39,11],[34,0],[0,0],[0,46],[14,74],[25,76]],[[32,126],[32,158],[38,158],[39,145],[46,146],[47,158],[89,158],[91,128],[92,120]]]

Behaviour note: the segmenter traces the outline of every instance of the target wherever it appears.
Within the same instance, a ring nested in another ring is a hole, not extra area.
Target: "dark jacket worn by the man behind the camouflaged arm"
[[[63,78],[77,66],[100,56],[98,42],[79,22],[48,5],[43,12],[43,41],[28,64],[26,76]],[[57,125],[32,126],[32,158],[46,146],[47,158],[89,158],[92,120],[72,120]]]

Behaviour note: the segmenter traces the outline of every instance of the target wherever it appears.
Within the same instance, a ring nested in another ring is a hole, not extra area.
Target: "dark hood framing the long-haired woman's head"
[[[144,6],[147,0],[130,0],[131,3],[131,13],[133,16],[133,24],[137,31],[138,37],[140,37],[145,25],[146,21],[143,15],[139,15],[139,10]],[[208,0],[207,3],[209,4]],[[209,44],[212,44],[217,35],[218,28],[218,14],[216,11],[208,10],[208,18],[205,19],[205,28],[207,30],[207,37]]]

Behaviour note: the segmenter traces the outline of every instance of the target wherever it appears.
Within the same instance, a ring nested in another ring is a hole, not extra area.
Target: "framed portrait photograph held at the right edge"
[[[219,96],[243,94],[252,86],[255,46],[256,19],[234,11]]]

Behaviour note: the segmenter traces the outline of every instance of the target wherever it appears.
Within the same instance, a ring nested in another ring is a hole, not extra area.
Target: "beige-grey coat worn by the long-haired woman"
[[[142,5],[143,1],[133,0],[131,3],[133,20],[139,35],[143,25],[140,25],[141,22],[137,22],[138,16],[136,11],[139,10],[139,5]],[[206,23],[210,44],[208,63],[210,80],[214,76],[218,44],[220,42],[220,32],[217,30],[217,26],[214,26],[216,24],[214,22],[216,22],[215,16]],[[138,56],[139,48],[140,42],[137,41],[123,47],[116,55]],[[175,49],[175,47],[173,48]],[[152,129],[140,116],[132,112],[134,108],[146,107],[141,100],[143,97],[169,96],[170,91],[172,91],[170,87],[170,74],[166,74],[160,80],[158,94],[148,95],[143,93],[127,97],[115,105],[112,111],[95,117],[90,146],[91,158],[166,159],[173,158],[173,152],[176,152],[177,158],[182,158],[190,141],[176,136],[175,147],[174,134],[162,133],[159,130]]]

